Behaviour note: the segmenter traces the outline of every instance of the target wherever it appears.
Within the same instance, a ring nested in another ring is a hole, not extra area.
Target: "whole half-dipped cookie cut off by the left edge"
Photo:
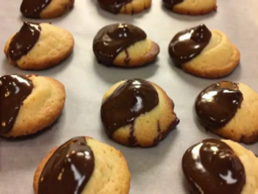
[[[5,75],[0,77],[0,135],[34,134],[51,125],[65,102],[64,85],[50,77]]]

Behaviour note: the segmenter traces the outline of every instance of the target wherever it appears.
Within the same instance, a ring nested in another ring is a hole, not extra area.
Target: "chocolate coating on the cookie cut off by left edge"
[[[32,89],[32,81],[25,76],[0,77],[0,134],[5,134],[13,128],[20,107]]]

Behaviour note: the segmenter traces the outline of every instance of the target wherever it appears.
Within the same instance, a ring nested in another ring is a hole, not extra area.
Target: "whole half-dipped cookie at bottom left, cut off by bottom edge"
[[[38,166],[35,194],[128,194],[130,172],[122,153],[90,137],[75,137]]]

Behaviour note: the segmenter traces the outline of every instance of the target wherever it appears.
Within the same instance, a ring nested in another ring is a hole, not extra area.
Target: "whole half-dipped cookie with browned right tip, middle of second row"
[[[159,45],[132,24],[107,25],[93,40],[93,52],[98,62],[106,66],[142,66],[153,62],[159,51]]]

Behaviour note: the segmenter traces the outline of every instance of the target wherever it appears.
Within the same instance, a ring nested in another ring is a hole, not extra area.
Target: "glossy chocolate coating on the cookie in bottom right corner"
[[[240,194],[245,185],[245,168],[223,141],[206,139],[190,147],[182,168],[192,194]]]

